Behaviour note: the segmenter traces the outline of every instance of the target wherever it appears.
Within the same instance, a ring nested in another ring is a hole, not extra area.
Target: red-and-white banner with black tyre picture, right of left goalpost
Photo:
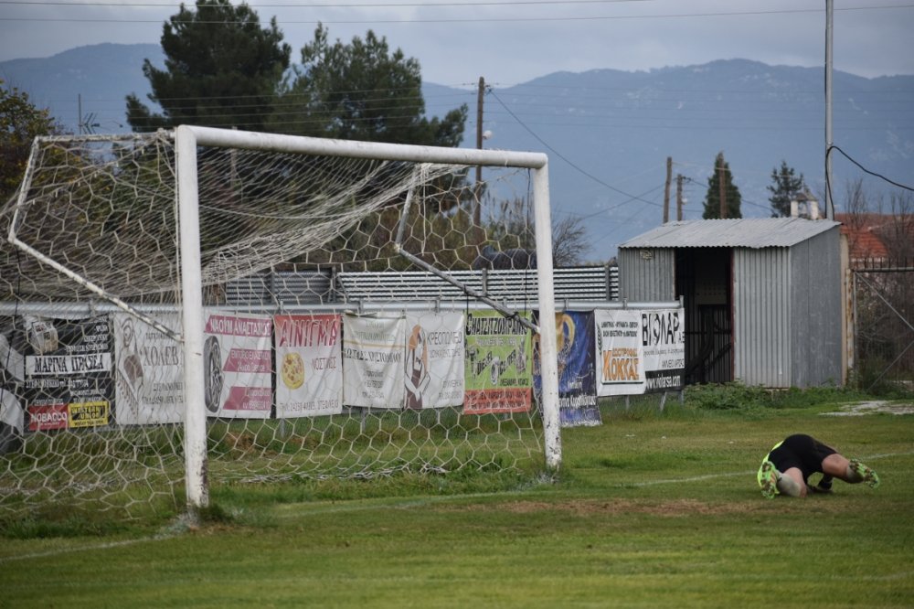
[[[207,411],[225,418],[269,418],[272,317],[207,310],[204,319]]]

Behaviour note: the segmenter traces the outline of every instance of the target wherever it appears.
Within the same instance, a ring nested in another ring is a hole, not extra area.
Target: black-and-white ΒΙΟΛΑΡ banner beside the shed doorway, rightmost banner
[[[641,312],[644,390],[682,390],[685,381],[685,309]]]

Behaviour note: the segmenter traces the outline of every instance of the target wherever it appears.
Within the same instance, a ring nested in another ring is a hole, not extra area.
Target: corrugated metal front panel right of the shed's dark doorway
[[[733,376],[748,386],[790,387],[791,251],[733,251]]]

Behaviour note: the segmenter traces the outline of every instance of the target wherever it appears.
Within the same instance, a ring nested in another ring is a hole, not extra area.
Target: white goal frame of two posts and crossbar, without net
[[[203,291],[200,281],[199,224],[197,192],[197,146],[271,150],[300,155],[346,156],[376,160],[440,163],[463,166],[516,166],[535,170],[533,200],[536,213],[537,277],[541,318],[555,316],[552,289],[552,235],[548,196],[547,156],[488,150],[432,148],[402,144],[373,144],[342,140],[292,137],[277,134],[180,126],[175,130],[177,150],[178,206],[181,218],[181,269],[184,276],[183,321],[185,328],[186,460],[187,500],[193,506],[207,504],[206,409],[203,383]],[[196,304],[199,304],[198,306]],[[561,436],[558,422],[558,368],[556,365],[556,328],[538,328],[543,353],[543,426],[546,462],[558,468]],[[191,391],[191,388],[193,390]]]

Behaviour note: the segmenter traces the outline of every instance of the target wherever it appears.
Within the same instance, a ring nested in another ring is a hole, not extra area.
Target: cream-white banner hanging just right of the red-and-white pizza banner
[[[403,407],[403,316],[343,318],[343,401],[362,408]]]

